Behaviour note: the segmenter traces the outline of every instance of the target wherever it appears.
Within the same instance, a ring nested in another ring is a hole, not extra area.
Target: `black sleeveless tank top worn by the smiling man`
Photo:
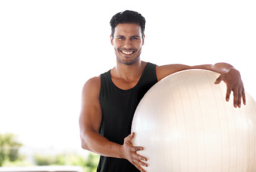
[[[137,85],[121,90],[111,80],[110,70],[100,75],[100,105],[102,121],[99,133],[108,140],[123,145],[131,134],[133,114],[146,92],[157,82],[156,65],[147,63]],[[129,161],[120,158],[100,156],[98,172],[133,172],[138,169]]]

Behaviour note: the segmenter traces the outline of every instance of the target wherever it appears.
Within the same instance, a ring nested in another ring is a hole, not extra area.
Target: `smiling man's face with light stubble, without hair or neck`
[[[115,48],[118,62],[124,65],[133,65],[138,62],[144,37],[138,24],[118,24],[115,27],[114,37],[110,37]]]

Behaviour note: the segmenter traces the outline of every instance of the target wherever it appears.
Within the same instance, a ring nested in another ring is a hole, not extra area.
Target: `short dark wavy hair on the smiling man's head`
[[[114,37],[115,27],[118,24],[139,24],[141,26],[141,34],[143,36],[146,20],[141,14],[136,11],[126,10],[119,12],[118,14],[115,14],[110,20],[112,37]]]

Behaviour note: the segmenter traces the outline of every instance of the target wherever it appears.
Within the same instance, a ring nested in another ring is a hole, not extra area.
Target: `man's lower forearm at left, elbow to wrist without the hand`
[[[93,131],[81,135],[82,148],[87,151],[92,151],[101,156],[113,158],[123,158],[122,145],[113,143],[102,135]]]

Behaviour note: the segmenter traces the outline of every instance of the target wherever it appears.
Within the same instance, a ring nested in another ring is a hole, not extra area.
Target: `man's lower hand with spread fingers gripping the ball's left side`
[[[137,151],[142,151],[143,148],[140,146],[133,146],[133,143],[131,140],[134,138],[134,133],[131,133],[131,135],[128,135],[125,140],[123,141],[122,145],[122,154],[123,158],[130,161],[133,166],[136,166],[138,170],[142,172],[146,172],[141,166],[147,167],[148,164],[143,163],[143,161],[147,161],[147,158],[138,155]]]

